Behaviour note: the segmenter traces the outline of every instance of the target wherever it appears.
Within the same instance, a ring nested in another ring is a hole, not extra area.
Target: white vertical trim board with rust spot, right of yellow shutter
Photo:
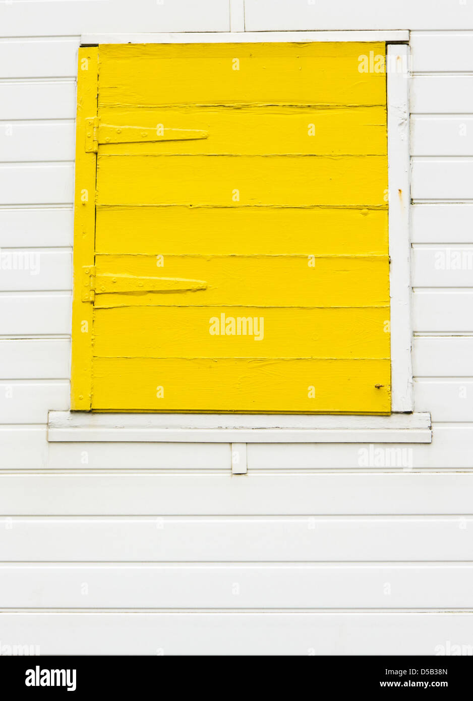
[[[388,53],[388,186],[392,411],[413,410],[409,233],[409,46]]]

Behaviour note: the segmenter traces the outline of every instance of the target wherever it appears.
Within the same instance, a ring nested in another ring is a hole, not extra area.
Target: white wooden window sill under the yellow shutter
[[[50,411],[50,442],[430,443],[430,414],[92,414]]]

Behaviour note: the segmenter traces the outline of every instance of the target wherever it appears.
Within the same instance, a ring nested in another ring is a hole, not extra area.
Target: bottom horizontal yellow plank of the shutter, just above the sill
[[[93,367],[99,411],[390,411],[389,360],[95,358]]]

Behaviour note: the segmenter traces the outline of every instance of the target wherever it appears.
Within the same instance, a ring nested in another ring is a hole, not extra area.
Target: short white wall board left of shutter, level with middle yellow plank
[[[0,246],[71,246],[72,207],[0,207]]]

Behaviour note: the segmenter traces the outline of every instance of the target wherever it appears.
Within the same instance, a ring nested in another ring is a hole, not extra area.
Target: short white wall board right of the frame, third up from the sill
[[[473,292],[414,290],[413,330],[424,334],[473,332]]]

